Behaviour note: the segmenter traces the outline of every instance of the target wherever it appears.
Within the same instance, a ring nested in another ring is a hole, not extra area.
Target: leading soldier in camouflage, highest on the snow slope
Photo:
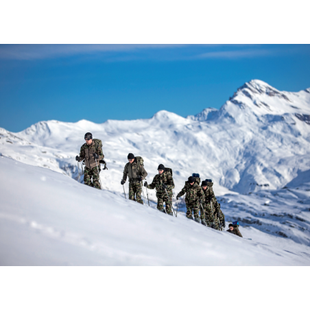
[[[99,160],[104,159],[104,153],[102,152],[102,147],[93,141],[93,134],[91,134],[91,132],[86,132],[84,139],[86,143],[82,145],[80,156],[76,156],[75,160],[78,160],[79,162],[84,160],[84,184],[90,187],[95,187],[95,189],[100,189]],[[93,182],[91,181],[91,178],[93,178]]]

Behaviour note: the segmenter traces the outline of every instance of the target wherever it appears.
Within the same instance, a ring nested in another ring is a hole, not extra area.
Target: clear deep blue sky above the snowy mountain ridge
[[[252,79],[310,87],[310,45],[0,45],[0,127],[186,117]]]

